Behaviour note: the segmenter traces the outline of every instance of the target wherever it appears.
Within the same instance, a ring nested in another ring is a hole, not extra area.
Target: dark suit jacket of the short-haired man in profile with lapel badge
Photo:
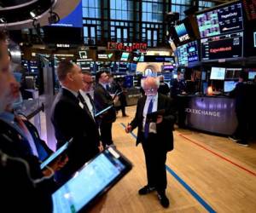
[[[98,127],[86,107],[80,107],[79,99],[67,89],[56,95],[51,111],[57,148],[73,138],[67,152],[69,160],[59,171],[62,176],[70,177],[99,153]]]

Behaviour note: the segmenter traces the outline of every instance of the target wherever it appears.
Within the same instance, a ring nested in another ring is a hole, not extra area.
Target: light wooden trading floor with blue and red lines
[[[113,141],[134,165],[133,169],[96,205],[92,212],[256,212],[256,143],[241,147],[226,137],[191,130],[175,130],[175,148],[167,155],[167,197],[170,207],[160,206],[155,193],[140,196],[147,184],[143,149],[135,146],[136,132],[125,134],[128,118],[118,115]]]

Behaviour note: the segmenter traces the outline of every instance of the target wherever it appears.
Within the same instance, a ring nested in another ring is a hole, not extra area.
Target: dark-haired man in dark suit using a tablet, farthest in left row
[[[100,71],[96,73],[96,89],[94,90],[94,101],[97,111],[114,105],[118,101],[118,97],[113,97],[108,93],[108,74],[106,71]],[[99,121],[101,129],[101,138],[103,147],[113,145],[112,141],[112,123],[116,119],[116,112],[112,107],[108,112],[102,114],[102,118]]]

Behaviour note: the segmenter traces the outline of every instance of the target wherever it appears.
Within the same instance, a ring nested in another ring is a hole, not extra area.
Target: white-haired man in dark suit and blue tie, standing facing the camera
[[[159,79],[148,77],[142,80],[145,95],[137,102],[135,118],[125,131],[131,132],[138,127],[137,144],[143,145],[146,160],[148,185],[141,188],[140,195],[157,191],[160,204],[167,208],[169,200],[166,197],[166,153],[173,149],[173,124],[175,112],[172,100],[166,95],[157,93]],[[164,114],[158,115],[156,121],[148,122],[147,114],[165,109]]]

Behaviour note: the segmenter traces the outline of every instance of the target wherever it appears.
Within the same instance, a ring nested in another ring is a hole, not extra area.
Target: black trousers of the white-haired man
[[[167,187],[166,150],[159,145],[159,137],[149,133],[148,139],[143,140],[148,186],[156,187],[159,193],[164,193]]]

